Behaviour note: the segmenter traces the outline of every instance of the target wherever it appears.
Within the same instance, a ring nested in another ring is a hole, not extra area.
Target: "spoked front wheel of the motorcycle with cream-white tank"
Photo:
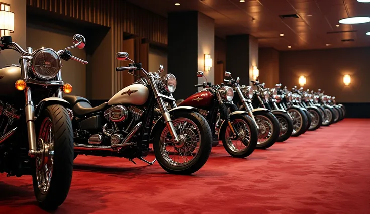
[[[172,123],[180,142],[175,144],[163,123],[154,130],[154,154],[169,173],[192,174],[203,167],[212,149],[212,133],[206,119],[196,112],[174,112]]]

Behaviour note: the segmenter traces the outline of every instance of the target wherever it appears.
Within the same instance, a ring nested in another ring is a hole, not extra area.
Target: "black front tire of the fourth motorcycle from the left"
[[[264,142],[264,143],[257,143],[256,149],[267,149],[271,147],[273,144],[278,141],[279,133],[280,133],[280,125],[278,119],[272,114],[272,112],[267,111],[256,111],[253,112],[254,118],[258,119],[259,116],[266,117],[271,123],[273,127],[272,134],[270,138]],[[259,125],[258,125],[259,126]],[[258,137],[260,135],[260,132],[258,131]]]

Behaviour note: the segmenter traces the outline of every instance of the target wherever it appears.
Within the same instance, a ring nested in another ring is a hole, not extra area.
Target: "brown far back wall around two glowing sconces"
[[[280,81],[291,88],[298,85],[300,75],[306,76],[306,86],[321,88],[337,97],[338,102],[370,102],[370,48],[280,52]],[[343,75],[350,74],[352,83],[343,84]]]

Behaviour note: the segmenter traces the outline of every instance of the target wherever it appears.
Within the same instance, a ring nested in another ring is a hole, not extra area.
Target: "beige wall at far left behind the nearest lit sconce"
[[[11,34],[13,42],[26,49],[26,0],[1,0],[10,4],[14,12],[14,33]],[[0,53],[0,68],[8,64],[19,64],[20,54],[14,50],[4,50]]]

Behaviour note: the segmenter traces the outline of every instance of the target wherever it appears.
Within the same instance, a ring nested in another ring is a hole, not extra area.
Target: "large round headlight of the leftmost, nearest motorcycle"
[[[38,78],[54,78],[58,74],[61,64],[58,54],[53,49],[40,48],[32,54],[31,68]]]

